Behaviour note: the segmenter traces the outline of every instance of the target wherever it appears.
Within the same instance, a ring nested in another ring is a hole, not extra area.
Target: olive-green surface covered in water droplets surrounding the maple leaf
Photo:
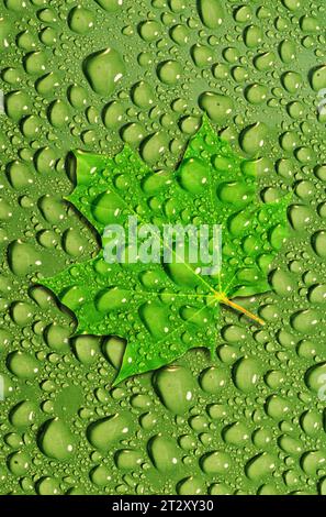
[[[324,2],[7,0],[1,16],[0,492],[326,493]],[[67,155],[127,143],[171,170],[203,113],[261,201],[293,191],[272,290],[246,304],[267,324],[226,310],[213,359],[112,388],[124,343],[69,340],[35,287],[99,250],[64,201]]]

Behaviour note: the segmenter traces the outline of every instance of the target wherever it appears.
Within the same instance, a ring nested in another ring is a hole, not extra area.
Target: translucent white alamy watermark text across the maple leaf
[[[215,275],[222,268],[220,224],[140,224],[130,216],[127,228],[109,224],[103,232],[105,262],[143,264],[193,264],[196,274]]]

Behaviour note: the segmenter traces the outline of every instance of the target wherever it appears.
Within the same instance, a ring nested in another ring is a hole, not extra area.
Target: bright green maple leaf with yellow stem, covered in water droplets
[[[218,223],[223,232],[222,270],[211,275],[199,273],[200,263],[177,263],[175,254],[170,264],[109,264],[101,251],[43,282],[75,312],[76,334],[127,340],[115,384],[191,348],[215,350],[221,304],[263,323],[231,298],[270,289],[268,273],[286,237],[289,196],[261,202],[252,163],[236,156],[206,119],[173,173],[154,173],[128,147],[114,157],[75,156],[77,186],[68,200],[100,235],[108,224],[126,227],[131,216],[158,229]]]

